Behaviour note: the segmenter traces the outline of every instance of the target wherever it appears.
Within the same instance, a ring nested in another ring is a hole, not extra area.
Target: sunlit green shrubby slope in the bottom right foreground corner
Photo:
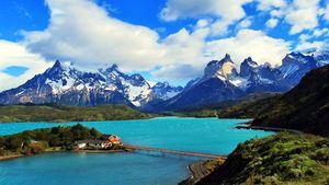
[[[246,141],[198,184],[329,184],[329,139],[279,134]]]

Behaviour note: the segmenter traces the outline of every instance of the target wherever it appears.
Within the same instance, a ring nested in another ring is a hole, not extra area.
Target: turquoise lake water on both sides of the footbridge
[[[192,152],[228,154],[239,142],[272,132],[235,129],[241,119],[161,117],[148,120],[81,123],[123,142]],[[54,127],[49,123],[0,124],[0,135]],[[47,153],[0,162],[0,184],[171,185],[189,176],[197,158],[157,153]]]

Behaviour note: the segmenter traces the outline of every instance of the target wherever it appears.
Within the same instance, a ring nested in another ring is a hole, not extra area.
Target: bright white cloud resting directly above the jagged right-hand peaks
[[[272,38],[261,31],[241,30],[235,37],[207,43],[206,49],[213,57],[220,58],[231,54],[237,67],[247,57],[258,63],[280,65],[282,58],[290,53],[290,43]]]

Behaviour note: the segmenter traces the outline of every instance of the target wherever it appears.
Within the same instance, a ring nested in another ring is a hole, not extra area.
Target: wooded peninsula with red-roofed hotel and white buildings
[[[55,151],[114,152],[124,150],[120,137],[78,124],[0,136],[0,160]]]

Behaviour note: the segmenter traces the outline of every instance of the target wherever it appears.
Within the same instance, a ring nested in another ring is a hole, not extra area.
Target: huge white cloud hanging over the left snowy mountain
[[[157,32],[113,19],[93,1],[46,3],[52,12],[49,26],[24,35],[29,48],[48,59],[71,60],[81,68],[116,62],[124,70],[144,70],[164,56]]]

